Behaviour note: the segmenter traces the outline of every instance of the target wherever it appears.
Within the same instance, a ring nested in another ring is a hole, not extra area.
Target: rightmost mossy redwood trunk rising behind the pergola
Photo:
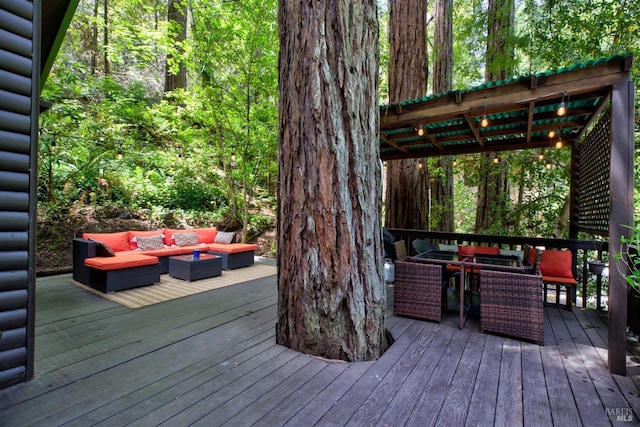
[[[514,0],[489,0],[485,81],[506,79],[514,66]],[[509,209],[507,168],[493,162],[495,154],[483,155],[475,232],[501,232]]]

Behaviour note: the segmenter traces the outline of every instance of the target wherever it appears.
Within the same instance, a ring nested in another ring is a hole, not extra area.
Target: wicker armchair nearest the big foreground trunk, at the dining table
[[[441,265],[396,261],[393,314],[442,321]]]

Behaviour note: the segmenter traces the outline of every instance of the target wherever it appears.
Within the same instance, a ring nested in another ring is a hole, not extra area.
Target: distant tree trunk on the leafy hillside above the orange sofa
[[[187,38],[187,10],[182,0],[169,0],[167,21],[173,46],[167,52],[164,91],[170,92],[187,86],[187,67],[182,58],[182,45]]]

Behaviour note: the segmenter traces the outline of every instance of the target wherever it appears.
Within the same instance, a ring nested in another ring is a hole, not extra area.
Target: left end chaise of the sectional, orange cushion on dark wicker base
[[[84,264],[89,267],[87,284],[104,293],[160,282],[160,263],[154,256],[93,257],[86,258]]]

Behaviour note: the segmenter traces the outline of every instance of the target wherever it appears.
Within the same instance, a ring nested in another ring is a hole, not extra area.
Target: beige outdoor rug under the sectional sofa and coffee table
[[[116,302],[131,309],[136,309],[159,302],[170,301],[175,298],[272,276],[274,274],[276,274],[276,267],[264,264],[253,264],[252,266],[235,270],[223,270],[221,276],[196,280],[194,282],[174,279],[168,274],[163,274],[160,276],[160,283],[155,285],[142,286],[140,288],[127,289],[110,294],[104,294],[72,279],[70,279],[69,282],[109,301]]]

